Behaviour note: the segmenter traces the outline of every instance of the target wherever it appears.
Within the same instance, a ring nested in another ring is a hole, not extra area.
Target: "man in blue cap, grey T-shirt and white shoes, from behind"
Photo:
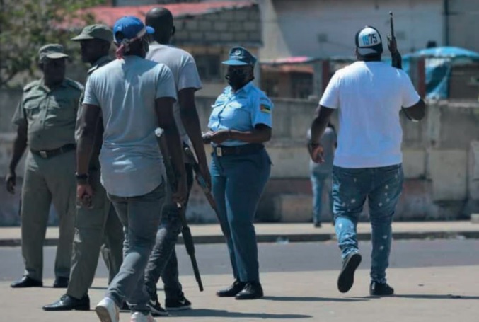
[[[178,169],[175,202],[186,198],[186,175],[180,135],[173,117],[176,100],[173,74],[165,64],[144,59],[146,34],[154,33],[133,16],[113,28],[117,59],[94,71],[86,83],[81,134],[77,149],[77,197],[91,206],[93,190],[88,163],[96,124],[103,120],[100,151],[101,183],[124,226],[125,245],[120,272],[95,310],[100,321],[117,322],[124,301],[134,322],[153,322],[149,295],[140,281],[156,239],[165,201],[164,165],[154,131],[164,130],[173,166]]]

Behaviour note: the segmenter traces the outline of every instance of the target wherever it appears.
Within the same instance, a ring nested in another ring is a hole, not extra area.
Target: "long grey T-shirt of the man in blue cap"
[[[141,57],[117,59],[88,78],[83,103],[102,110],[101,181],[111,195],[145,195],[163,182],[154,134],[155,100],[161,97],[176,99],[173,74]]]

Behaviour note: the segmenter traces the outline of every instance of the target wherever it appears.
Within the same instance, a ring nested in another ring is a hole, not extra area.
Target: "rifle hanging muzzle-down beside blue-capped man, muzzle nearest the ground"
[[[170,184],[171,191],[175,191],[178,186],[178,180],[176,176],[175,169],[173,168],[173,164],[171,164],[171,159],[168,154],[168,145],[166,144],[166,138],[163,135],[163,129],[159,128],[155,131],[156,138],[158,140],[158,146],[160,147],[161,154],[163,156],[163,163],[165,164],[166,168],[166,177],[168,183]],[[195,257],[195,244],[193,243],[193,237],[191,235],[190,227],[188,226],[188,222],[186,221],[185,216],[185,205],[177,204],[178,206],[178,217],[180,218],[181,222],[181,234],[183,235],[183,242],[185,243],[186,252],[190,255],[191,265],[193,268],[193,272],[195,273],[195,279],[198,283],[198,287],[200,288],[200,292],[203,292],[203,282],[201,280],[200,269],[198,268],[198,263]]]

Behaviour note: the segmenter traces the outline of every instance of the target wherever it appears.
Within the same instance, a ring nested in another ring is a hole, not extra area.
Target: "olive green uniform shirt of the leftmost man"
[[[52,89],[43,80],[23,88],[13,123],[28,126],[28,144],[33,150],[53,150],[75,143],[76,112],[83,86],[71,79]]]

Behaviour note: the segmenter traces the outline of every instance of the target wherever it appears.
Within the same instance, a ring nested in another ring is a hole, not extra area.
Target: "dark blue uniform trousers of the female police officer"
[[[259,282],[258,245],[253,221],[270,178],[271,161],[263,149],[254,154],[212,155],[212,193],[226,238],[233,276]]]

